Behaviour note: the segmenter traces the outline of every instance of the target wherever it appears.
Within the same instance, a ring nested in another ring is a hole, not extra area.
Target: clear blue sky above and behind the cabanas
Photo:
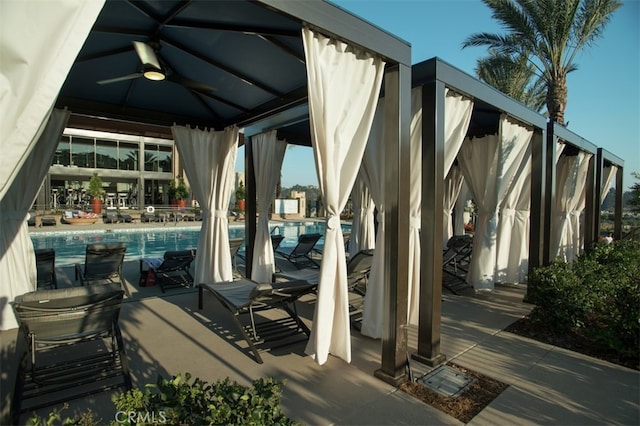
[[[333,3],[411,44],[412,63],[434,56],[474,75],[485,48],[462,50],[472,33],[501,32],[479,0],[334,0]],[[640,172],[640,0],[623,0],[602,38],[569,74],[569,130],[625,160],[624,188]],[[236,170],[243,170],[244,150]],[[317,185],[311,148],[291,147],[282,184]]]

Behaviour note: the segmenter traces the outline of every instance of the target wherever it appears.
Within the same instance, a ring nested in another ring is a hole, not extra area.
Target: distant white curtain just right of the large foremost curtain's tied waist
[[[362,170],[362,165],[360,167]],[[353,202],[353,222],[349,237],[349,257],[355,256],[359,251],[372,249],[376,244],[373,220],[373,211],[376,206],[360,172],[351,191],[351,200]]]

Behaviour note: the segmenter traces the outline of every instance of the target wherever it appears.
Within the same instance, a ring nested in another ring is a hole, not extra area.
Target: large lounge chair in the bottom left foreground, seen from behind
[[[16,297],[12,306],[21,352],[11,406],[14,424],[27,411],[119,387],[131,389],[118,325],[123,295],[117,284],[108,284]]]

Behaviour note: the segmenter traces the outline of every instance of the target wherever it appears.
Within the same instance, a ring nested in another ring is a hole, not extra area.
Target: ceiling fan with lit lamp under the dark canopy
[[[155,47],[154,47],[155,46]],[[191,80],[190,78],[181,76],[176,73],[168,66],[166,61],[162,60],[159,56],[158,50],[160,49],[160,44],[155,43],[153,46],[148,43],[144,43],[141,41],[134,41],[133,47],[138,54],[138,58],[140,59],[140,63],[142,64],[142,71],[127,74],[120,77],[108,78],[106,80],[100,80],[97,83],[100,85],[117,83],[120,81],[133,80],[136,78],[144,77],[147,80],[152,81],[162,81],[167,80],[173,83],[180,84],[187,89],[195,90],[201,93],[210,93],[215,91],[214,87],[209,86],[208,84],[204,84],[195,80]]]

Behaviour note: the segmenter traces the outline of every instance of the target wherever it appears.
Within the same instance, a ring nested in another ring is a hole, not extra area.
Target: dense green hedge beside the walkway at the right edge
[[[530,319],[575,332],[624,356],[640,345],[640,242],[597,244],[572,265],[557,260],[529,277]]]

